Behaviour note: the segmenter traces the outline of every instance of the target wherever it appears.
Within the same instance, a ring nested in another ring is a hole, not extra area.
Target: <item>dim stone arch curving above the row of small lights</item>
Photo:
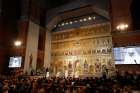
[[[110,19],[109,12],[106,9],[103,9],[102,7],[100,7],[101,5],[93,5],[93,4],[90,4],[90,2],[87,2],[87,3],[84,2],[85,3],[84,5],[81,3],[82,2],[79,0],[78,2],[71,3],[69,5],[62,6],[60,8],[56,8],[56,9],[48,11],[47,13],[48,19],[46,20],[46,28],[48,30],[52,30],[55,24],[61,22],[62,20],[66,18],[82,16],[82,15],[93,13],[93,12],[96,14],[99,14],[100,16],[103,16],[104,18],[108,20]],[[75,9],[68,7],[68,6],[73,6],[73,4],[77,5]],[[84,12],[82,12],[82,10]],[[64,16],[66,16],[66,18],[64,18]]]

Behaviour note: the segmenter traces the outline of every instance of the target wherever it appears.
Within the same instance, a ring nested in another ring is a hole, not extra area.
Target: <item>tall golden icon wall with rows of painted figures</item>
[[[94,76],[114,68],[110,24],[52,33],[53,73]]]

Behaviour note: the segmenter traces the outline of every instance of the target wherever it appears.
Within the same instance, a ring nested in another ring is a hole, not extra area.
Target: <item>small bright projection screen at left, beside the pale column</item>
[[[10,57],[9,68],[21,67],[21,57]]]

